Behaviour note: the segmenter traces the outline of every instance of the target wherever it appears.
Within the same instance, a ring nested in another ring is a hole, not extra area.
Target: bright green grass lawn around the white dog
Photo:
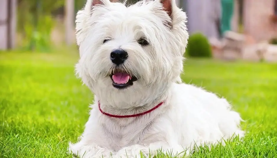
[[[70,157],[93,95],[74,76],[78,55],[0,53],[0,157]],[[226,97],[246,120],[243,143],[191,157],[277,157],[277,64],[188,59],[186,83]]]

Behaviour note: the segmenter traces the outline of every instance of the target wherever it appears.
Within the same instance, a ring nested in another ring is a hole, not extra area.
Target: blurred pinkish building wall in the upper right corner
[[[255,40],[277,37],[277,23],[271,20],[274,0],[244,0],[244,33]]]

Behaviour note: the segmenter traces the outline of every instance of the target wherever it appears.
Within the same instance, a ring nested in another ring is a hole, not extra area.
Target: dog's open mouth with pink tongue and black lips
[[[124,72],[115,72],[110,77],[113,80],[113,87],[118,89],[128,88],[133,85],[133,82],[138,80],[136,77],[131,76],[131,74]]]

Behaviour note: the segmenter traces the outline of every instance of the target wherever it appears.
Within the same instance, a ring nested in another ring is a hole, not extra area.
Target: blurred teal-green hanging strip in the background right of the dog
[[[224,32],[231,30],[233,11],[233,0],[221,0],[221,34],[224,34]]]

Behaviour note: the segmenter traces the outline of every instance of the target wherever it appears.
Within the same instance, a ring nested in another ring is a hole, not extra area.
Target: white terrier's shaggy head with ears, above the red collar
[[[105,104],[128,108],[151,102],[180,80],[185,22],[171,0],[128,7],[88,0],[76,16],[76,72]]]

